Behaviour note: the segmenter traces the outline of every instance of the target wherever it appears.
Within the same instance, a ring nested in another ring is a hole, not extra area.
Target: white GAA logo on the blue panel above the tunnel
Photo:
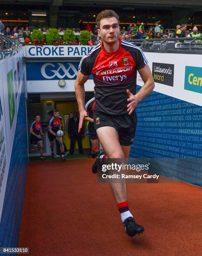
[[[50,69],[51,67],[53,69]],[[77,69],[72,63],[46,63],[41,67],[41,74],[46,79],[53,79],[54,77],[58,79],[64,79],[65,77],[73,79],[77,76],[77,73]]]

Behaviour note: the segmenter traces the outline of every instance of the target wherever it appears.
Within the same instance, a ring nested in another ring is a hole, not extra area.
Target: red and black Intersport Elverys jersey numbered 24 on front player
[[[147,63],[139,47],[121,39],[114,53],[105,51],[102,42],[84,56],[79,70],[94,77],[95,110],[108,115],[127,114],[126,90],[136,94],[137,70],[146,67]]]

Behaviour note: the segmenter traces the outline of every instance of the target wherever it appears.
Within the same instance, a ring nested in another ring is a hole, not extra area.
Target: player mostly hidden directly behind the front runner
[[[91,151],[92,158],[95,158],[97,156],[97,151],[100,149],[100,142],[94,128],[94,120],[93,120],[94,107],[95,107],[95,97],[90,99],[85,105],[85,111],[88,114],[88,117],[85,118],[85,120],[89,121],[88,130],[89,130],[90,140],[92,143],[92,151]]]

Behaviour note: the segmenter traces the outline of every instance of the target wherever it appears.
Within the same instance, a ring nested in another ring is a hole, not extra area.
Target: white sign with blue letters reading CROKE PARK
[[[26,57],[47,58],[47,57],[83,57],[95,49],[96,46],[65,45],[65,46],[25,46]]]

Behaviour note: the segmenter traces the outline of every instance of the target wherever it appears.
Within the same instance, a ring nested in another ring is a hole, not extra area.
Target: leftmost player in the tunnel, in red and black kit
[[[42,125],[40,123],[41,117],[40,115],[35,116],[35,121],[30,126],[30,143],[33,145],[30,152],[37,151],[37,146],[40,146],[40,160],[43,161],[45,158],[43,157],[43,142],[41,140],[41,136],[45,136],[42,132]]]

